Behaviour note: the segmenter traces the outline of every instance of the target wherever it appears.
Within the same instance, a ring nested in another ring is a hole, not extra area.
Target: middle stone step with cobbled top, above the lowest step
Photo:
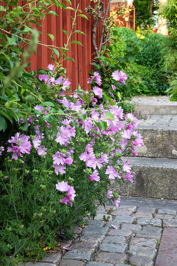
[[[151,115],[138,120],[144,146],[138,156],[177,159],[177,115]]]

